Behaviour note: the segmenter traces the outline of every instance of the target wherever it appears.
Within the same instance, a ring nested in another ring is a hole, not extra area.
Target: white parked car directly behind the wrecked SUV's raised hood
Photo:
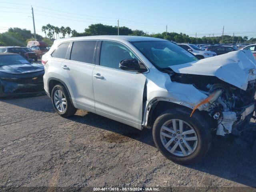
[[[181,43],[178,45],[181,46],[182,48],[186,49],[187,51],[192,52],[194,55],[196,55],[200,59],[204,59],[204,58],[208,58],[208,57],[217,55],[215,52],[202,50],[194,44]]]

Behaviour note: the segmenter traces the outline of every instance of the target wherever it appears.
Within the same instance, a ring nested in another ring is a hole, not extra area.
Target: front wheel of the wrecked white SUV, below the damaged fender
[[[195,111],[192,117],[190,117],[190,113],[191,110],[189,108],[166,110],[156,119],[153,125],[153,138],[156,147],[166,158],[178,164],[195,164],[208,152],[212,142],[210,126],[205,118],[199,112]],[[183,124],[184,134],[179,132],[180,121]],[[169,131],[173,132],[172,124],[174,122],[176,125],[175,136],[165,130],[167,127]],[[187,130],[189,132],[185,134]],[[191,134],[188,134],[190,132]],[[166,137],[166,135],[163,135],[164,133],[169,134]]]

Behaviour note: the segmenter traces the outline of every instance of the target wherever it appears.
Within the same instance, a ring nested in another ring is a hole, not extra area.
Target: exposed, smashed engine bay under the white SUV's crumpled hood
[[[238,135],[243,131],[244,124],[250,122],[255,109],[256,80],[248,82],[246,90],[214,76],[174,73],[171,75],[171,80],[192,84],[209,97],[213,95],[210,100],[200,104],[200,110],[206,110],[214,119],[217,135],[224,136],[230,133]]]

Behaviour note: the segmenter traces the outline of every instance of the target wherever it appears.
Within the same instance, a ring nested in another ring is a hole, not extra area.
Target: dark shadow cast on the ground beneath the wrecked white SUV
[[[108,142],[121,142],[120,140],[132,138],[155,147],[150,129],[136,130],[114,120],[83,111],[78,111],[69,119],[111,131],[112,133],[105,138]],[[197,164],[187,167],[246,186],[256,186],[256,147],[254,146],[252,150],[243,150],[232,140],[216,136],[206,156]]]

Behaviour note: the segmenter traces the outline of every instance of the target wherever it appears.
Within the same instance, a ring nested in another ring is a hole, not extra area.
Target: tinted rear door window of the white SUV
[[[72,46],[70,60],[93,63],[96,41],[75,41]]]

